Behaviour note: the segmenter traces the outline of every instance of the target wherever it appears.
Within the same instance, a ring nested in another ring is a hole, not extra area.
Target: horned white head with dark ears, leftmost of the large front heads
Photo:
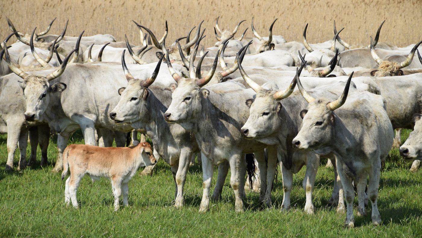
[[[4,46],[6,46],[6,44],[4,44]],[[58,82],[50,84],[50,82],[51,80],[59,77],[65,71],[70,55],[72,55],[74,51],[75,50],[70,52],[65,60],[63,60],[62,65],[55,71],[48,75],[34,75],[22,71],[19,66],[12,63],[7,47],[5,48],[5,57],[9,68],[23,79],[22,81],[19,81],[19,84],[21,85],[26,98],[27,105],[24,113],[26,120],[40,120],[40,116],[46,111],[49,104],[50,93],[62,92],[66,89],[66,85],[64,83]]]

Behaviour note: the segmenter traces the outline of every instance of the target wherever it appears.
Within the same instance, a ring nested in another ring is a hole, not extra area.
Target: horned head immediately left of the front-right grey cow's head
[[[281,91],[262,88],[248,77],[240,63],[238,65],[245,82],[257,93],[254,99],[251,98],[245,102],[249,106],[249,118],[241,128],[241,134],[249,140],[253,139],[270,145],[277,143],[276,139],[271,137],[271,135],[277,134],[283,124],[281,99],[287,98],[292,94],[296,86],[296,80],[299,77],[298,72],[302,71],[305,64],[302,64],[300,70],[296,72],[296,76],[289,87]]]

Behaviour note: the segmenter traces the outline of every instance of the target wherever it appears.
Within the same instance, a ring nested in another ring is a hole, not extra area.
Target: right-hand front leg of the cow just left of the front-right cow
[[[314,213],[314,203],[312,202],[312,192],[314,191],[315,178],[317,177],[317,171],[319,166],[319,156],[315,154],[308,154],[308,160],[306,163],[306,174],[303,178],[303,189],[306,194],[305,212],[308,214]]]

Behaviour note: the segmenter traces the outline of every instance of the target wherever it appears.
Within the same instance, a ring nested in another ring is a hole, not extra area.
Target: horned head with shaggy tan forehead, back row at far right
[[[403,75],[403,71],[401,68],[407,67],[410,63],[412,63],[413,57],[415,55],[415,51],[419,47],[422,41],[419,41],[413,49],[410,51],[409,55],[407,56],[406,60],[401,63],[390,62],[387,60],[381,60],[381,58],[376,54],[375,48],[373,46],[373,40],[371,37],[371,55],[372,58],[378,63],[378,68],[371,72],[372,76],[375,77],[386,77],[386,76],[400,76]],[[419,51],[418,51],[419,53]]]

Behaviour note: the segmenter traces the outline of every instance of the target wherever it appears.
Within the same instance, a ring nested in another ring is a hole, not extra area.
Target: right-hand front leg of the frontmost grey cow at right
[[[381,215],[379,214],[378,204],[377,204],[380,168],[381,168],[381,161],[379,159],[376,159],[376,161],[372,165],[371,172],[369,174],[368,196],[372,204],[372,223],[374,225],[381,224]]]

